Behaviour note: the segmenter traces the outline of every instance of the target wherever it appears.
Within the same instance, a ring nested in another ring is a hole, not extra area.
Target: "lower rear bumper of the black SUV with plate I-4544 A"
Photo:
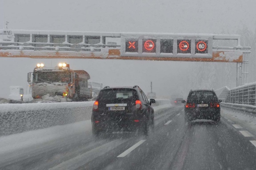
[[[98,123],[92,122],[92,128],[101,132],[113,132],[113,131],[135,132],[135,131],[142,131],[144,127],[145,127],[145,121],[140,121],[140,122],[100,121]]]

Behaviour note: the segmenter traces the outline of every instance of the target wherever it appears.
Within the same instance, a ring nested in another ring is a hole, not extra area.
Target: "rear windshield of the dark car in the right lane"
[[[218,98],[215,92],[212,91],[195,91],[191,92],[188,96],[188,102],[196,101],[196,100],[211,100],[217,101]]]

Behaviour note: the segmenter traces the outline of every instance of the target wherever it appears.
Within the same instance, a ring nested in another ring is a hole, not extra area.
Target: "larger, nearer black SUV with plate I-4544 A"
[[[154,128],[154,99],[148,99],[139,86],[104,87],[92,109],[92,133],[135,131],[148,136]]]

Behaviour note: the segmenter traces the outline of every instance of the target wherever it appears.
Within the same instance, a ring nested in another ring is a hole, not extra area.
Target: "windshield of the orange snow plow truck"
[[[61,82],[69,83],[71,81],[71,75],[66,71],[45,71],[36,72],[33,74],[33,82]]]

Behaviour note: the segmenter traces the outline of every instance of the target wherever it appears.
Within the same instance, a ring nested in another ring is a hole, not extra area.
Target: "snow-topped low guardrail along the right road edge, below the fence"
[[[225,109],[242,112],[247,115],[256,116],[256,106],[233,103],[220,103],[220,106]]]

